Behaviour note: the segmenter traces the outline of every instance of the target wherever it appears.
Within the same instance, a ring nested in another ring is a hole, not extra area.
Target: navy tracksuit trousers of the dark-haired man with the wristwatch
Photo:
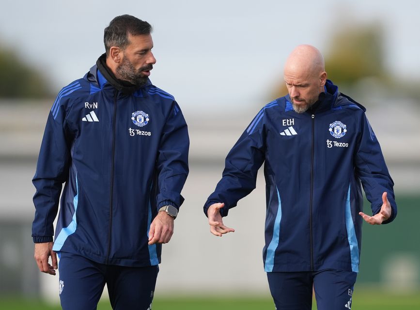
[[[59,253],[59,293],[63,310],[95,310],[108,287],[113,310],[151,310],[159,267],[126,267]]]

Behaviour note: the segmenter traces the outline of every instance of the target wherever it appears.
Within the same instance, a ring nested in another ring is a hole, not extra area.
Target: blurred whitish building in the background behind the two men
[[[0,293],[17,289],[58,299],[58,277],[37,271],[31,240],[35,191],[31,179],[50,106],[50,102],[0,102],[0,272],[2,278],[5,272],[15,277],[13,287],[9,281],[7,287],[0,286]],[[262,260],[263,171],[257,188],[224,220],[235,233],[213,236],[202,211],[221,177],[225,156],[259,109],[226,109],[218,115],[184,110],[191,140],[190,175],[174,235],[162,249],[159,294],[269,294]],[[419,109],[419,105],[403,109],[401,104],[381,103],[367,112],[400,193],[420,189]]]

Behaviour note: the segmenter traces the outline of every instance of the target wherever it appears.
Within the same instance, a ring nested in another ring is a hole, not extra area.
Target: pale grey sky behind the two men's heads
[[[270,100],[290,51],[306,43],[326,53],[343,24],[381,22],[391,72],[420,78],[419,11],[415,0],[2,0],[0,43],[43,68],[59,91],[104,51],[109,21],[131,14],[154,26],[156,86],[183,109],[237,108]]]

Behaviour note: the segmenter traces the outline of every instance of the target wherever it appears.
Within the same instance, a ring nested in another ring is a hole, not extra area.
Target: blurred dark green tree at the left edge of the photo
[[[23,62],[13,50],[0,49],[0,98],[46,98],[51,96],[46,79]]]

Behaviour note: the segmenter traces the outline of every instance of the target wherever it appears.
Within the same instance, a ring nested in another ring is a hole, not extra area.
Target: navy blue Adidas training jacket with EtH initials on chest
[[[361,185],[376,214],[393,181],[365,108],[327,80],[313,109],[296,113],[290,96],[267,104],[226,157],[223,177],[204,205],[228,210],[254,188],[264,164],[264,269],[358,272],[363,208]],[[254,212],[258,206],[254,206]]]

